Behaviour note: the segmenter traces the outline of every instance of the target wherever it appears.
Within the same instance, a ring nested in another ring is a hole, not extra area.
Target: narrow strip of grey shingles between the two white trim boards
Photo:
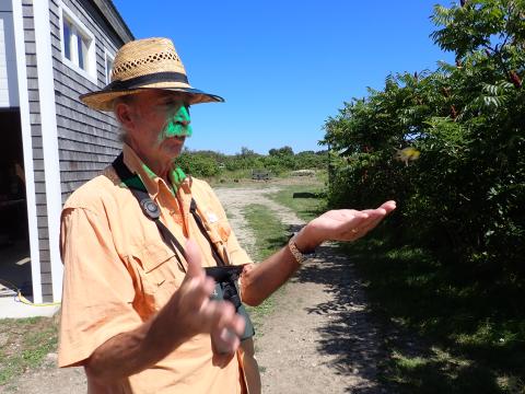
[[[47,229],[46,183],[44,176],[44,151],[42,148],[40,105],[38,97],[38,77],[36,73],[35,28],[33,21],[33,1],[22,1],[24,26],[25,61],[27,71],[27,93],[30,99],[30,123],[33,146],[33,165],[36,194],[36,220],[38,228],[38,248],[40,256],[42,292],[45,302],[52,300],[51,263],[49,256],[49,233]]]

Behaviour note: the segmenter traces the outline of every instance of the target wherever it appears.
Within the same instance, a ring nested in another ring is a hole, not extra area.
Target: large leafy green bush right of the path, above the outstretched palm
[[[332,206],[396,199],[397,237],[509,282],[525,278],[524,5],[436,5],[432,37],[456,65],[388,76],[329,118],[324,139]]]

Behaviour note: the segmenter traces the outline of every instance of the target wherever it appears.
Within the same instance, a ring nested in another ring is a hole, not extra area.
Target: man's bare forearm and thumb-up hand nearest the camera
[[[214,351],[233,355],[244,332],[244,318],[230,302],[211,301],[214,281],[200,266],[197,245],[186,244],[188,269],[180,288],[159,313],[133,331],[114,336],[85,361],[93,387],[150,368],[197,334],[210,334]]]

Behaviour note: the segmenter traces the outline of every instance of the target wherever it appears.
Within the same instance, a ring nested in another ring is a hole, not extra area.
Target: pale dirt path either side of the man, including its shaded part
[[[267,195],[278,184],[260,188],[217,188],[231,224],[243,246],[254,251],[255,239],[242,215],[244,207],[262,204],[289,225],[302,221],[290,209]],[[256,337],[262,392],[281,393],[383,393],[376,371],[383,358],[378,328],[366,303],[351,260],[334,245],[320,247],[317,257],[276,297],[276,312],[268,316]],[[0,393],[85,393],[82,369],[58,370],[56,355],[46,366],[27,372]]]

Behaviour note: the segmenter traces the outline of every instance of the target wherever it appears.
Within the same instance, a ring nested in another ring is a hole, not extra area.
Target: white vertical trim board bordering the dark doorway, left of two
[[[42,303],[40,251],[38,248],[38,225],[36,221],[35,173],[33,169],[33,142],[31,139],[30,97],[27,95],[27,70],[25,63],[24,23],[22,2],[12,0],[14,48],[16,51],[16,76],[19,81],[20,121],[22,149],[24,152],[25,196],[27,225],[30,229],[31,276],[33,301]]]

